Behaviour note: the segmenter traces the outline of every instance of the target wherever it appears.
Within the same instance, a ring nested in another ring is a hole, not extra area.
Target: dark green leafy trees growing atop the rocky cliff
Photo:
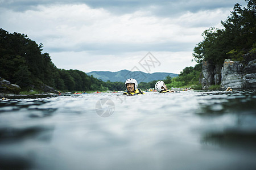
[[[256,1],[245,1],[247,8],[234,5],[228,19],[221,22],[223,29],[211,27],[202,33],[204,40],[193,49],[196,62],[223,63],[226,58],[242,61],[243,54],[255,46]]]

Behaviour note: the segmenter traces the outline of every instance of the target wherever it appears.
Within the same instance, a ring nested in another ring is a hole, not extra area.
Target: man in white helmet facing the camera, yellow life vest
[[[123,95],[144,95],[144,92],[138,88],[137,80],[135,79],[127,79],[125,81],[126,92]]]

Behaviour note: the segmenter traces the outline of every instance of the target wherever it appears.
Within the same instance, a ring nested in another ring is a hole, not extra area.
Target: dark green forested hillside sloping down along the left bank
[[[44,84],[57,90],[108,90],[106,84],[79,70],[57,69],[43,45],[27,35],[0,29],[0,76],[18,84],[22,90],[40,90]]]

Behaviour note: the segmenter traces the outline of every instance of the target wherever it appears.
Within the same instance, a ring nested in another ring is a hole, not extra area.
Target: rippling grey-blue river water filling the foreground
[[[256,91],[0,103],[0,169],[255,169]]]

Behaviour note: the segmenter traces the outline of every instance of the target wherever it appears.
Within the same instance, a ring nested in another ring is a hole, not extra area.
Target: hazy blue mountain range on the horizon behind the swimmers
[[[92,71],[86,73],[88,75],[93,75],[94,78],[101,79],[104,82],[110,80],[110,82],[125,82],[128,78],[134,78],[138,83],[140,82],[151,82],[152,80],[163,80],[167,76],[174,78],[178,74],[174,73],[144,73],[143,71],[129,71],[121,70],[117,72],[111,71]]]

